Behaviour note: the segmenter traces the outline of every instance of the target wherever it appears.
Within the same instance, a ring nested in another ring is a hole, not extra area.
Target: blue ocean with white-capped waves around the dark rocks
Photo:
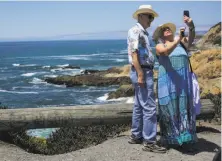
[[[126,65],[126,49],[126,40],[1,42],[0,102],[9,108],[41,108],[119,101],[106,101],[107,94],[117,86],[66,88],[44,79]],[[67,66],[80,69],[64,68]],[[40,129],[29,133],[46,137],[51,131]]]

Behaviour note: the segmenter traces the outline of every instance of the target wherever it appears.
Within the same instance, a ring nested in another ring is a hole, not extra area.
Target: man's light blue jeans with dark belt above
[[[154,143],[157,133],[156,102],[154,96],[153,71],[143,69],[145,87],[140,87],[135,68],[131,68],[130,79],[135,88],[135,102],[132,115],[131,132],[135,138]]]

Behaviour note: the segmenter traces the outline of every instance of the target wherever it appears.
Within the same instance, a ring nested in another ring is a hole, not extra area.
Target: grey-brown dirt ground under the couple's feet
[[[221,126],[197,122],[199,141],[195,153],[183,153],[170,149],[165,154],[142,151],[142,145],[128,144],[130,131],[89,148],[66,154],[44,156],[31,154],[23,149],[0,141],[1,161],[212,161],[221,148]]]

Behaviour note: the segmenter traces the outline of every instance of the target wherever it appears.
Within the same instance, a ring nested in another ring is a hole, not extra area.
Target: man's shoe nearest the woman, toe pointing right
[[[159,146],[156,143],[143,143],[143,151],[149,151],[154,153],[166,153],[166,148]]]

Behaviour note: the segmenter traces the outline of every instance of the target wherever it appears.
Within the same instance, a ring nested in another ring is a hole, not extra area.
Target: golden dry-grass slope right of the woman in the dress
[[[221,93],[221,56],[220,49],[209,49],[194,53],[190,59],[202,97],[208,93]]]

